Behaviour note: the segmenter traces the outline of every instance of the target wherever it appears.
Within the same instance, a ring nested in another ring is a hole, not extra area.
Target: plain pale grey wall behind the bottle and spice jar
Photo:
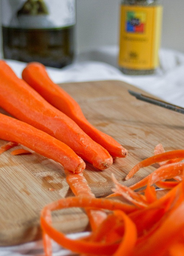
[[[76,0],[77,53],[99,46],[118,44],[120,2]],[[161,47],[184,52],[184,0],[162,0],[162,3],[164,13]],[[2,49],[2,38],[0,39]]]

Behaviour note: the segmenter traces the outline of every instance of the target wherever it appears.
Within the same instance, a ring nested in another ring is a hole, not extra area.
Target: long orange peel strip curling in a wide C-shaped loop
[[[135,207],[129,206],[119,202],[113,202],[105,198],[92,198],[92,197],[68,197],[62,198],[56,202],[53,202],[45,206],[41,211],[41,227],[53,240],[55,240],[61,246],[70,249],[77,253],[89,253],[95,255],[112,255],[118,247],[118,244],[112,243],[95,243],[93,241],[86,240],[72,240],[69,239],[62,232],[57,231],[52,225],[47,222],[48,210],[58,210],[68,207],[90,207],[99,209],[115,210],[120,209],[125,212],[131,212],[135,210]]]

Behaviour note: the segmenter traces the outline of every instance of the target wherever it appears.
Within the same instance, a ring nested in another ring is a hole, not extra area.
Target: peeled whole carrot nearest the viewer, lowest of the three
[[[59,162],[67,170],[78,173],[85,169],[84,161],[66,144],[27,123],[1,113],[0,138],[22,144]]]

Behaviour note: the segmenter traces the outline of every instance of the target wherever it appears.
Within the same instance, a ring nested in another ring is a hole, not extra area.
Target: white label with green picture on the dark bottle
[[[75,24],[75,0],[1,0],[2,25],[9,28],[62,28]]]

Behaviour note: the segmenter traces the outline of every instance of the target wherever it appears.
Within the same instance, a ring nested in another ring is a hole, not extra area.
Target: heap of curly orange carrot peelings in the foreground
[[[76,192],[73,182],[75,196],[46,205],[41,212],[45,254],[52,255],[53,239],[83,256],[184,255],[184,150],[158,151],[160,147],[156,147],[153,157],[136,164],[127,175],[129,179],[140,168],[159,164],[136,184],[126,187],[112,175],[113,193],[106,198],[95,198],[87,184],[85,190]],[[70,173],[66,175],[70,181]],[[86,183],[83,174],[79,175],[77,182],[82,179],[81,184]],[[91,225],[89,235],[73,240],[53,227],[52,212],[70,207],[84,208],[87,215],[93,211],[92,216],[88,215],[89,223],[96,219],[97,225]],[[95,218],[99,212],[104,213],[101,219]]]

